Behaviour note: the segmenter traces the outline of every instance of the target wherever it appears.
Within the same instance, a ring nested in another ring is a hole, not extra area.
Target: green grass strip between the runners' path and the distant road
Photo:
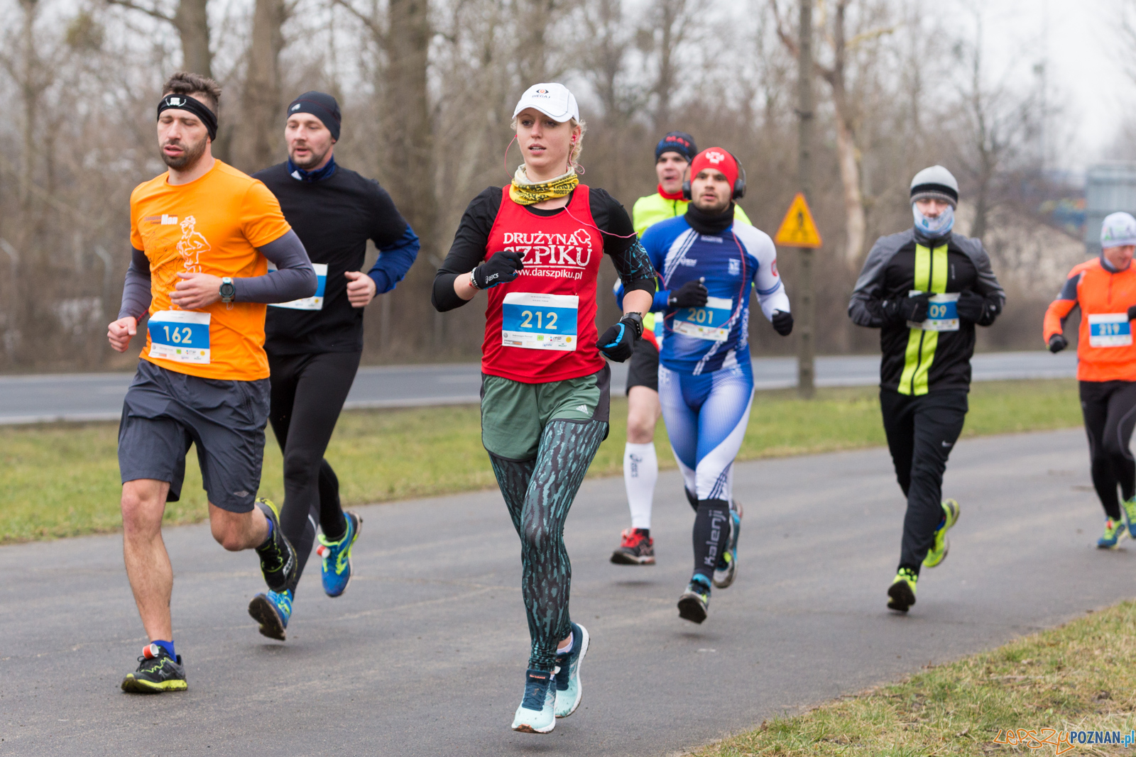
[[[327,449],[349,504],[387,502],[493,487],[481,445],[476,406],[346,412]],[[611,434],[590,476],[623,472],[627,404],[612,401]],[[1078,426],[1077,382],[976,384],[963,436]],[[0,427],[0,544],[118,530],[117,423]],[[759,392],[740,460],[883,445],[877,389],[820,389],[816,399],[792,390]],[[666,429],[655,447],[674,468]],[[279,448],[268,434],[261,494],[283,498]],[[195,523],[207,515],[197,456],[190,454],[181,502],[165,522]]]

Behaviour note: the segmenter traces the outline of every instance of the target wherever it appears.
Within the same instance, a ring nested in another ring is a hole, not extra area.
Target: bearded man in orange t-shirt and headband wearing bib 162
[[[265,309],[315,294],[316,272],[268,188],[212,157],[219,98],[217,83],[197,74],[166,83],[158,141],[169,170],[131,194],[133,256],[107,333],[126,352],[149,314],[118,429],[126,574],[150,639],[124,691],[186,688],[161,516],[181,496],[191,444],[214,538],[229,550],[254,548],[273,590],[296,570],[276,506],[257,499],[268,421]]]

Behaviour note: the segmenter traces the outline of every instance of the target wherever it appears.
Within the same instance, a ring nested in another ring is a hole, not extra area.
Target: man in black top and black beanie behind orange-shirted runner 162
[[[260,179],[303,242],[319,276],[316,296],[268,309],[265,351],[272,369],[269,421],[284,453],[281,528],[295,546],[299,570],[283,591],[258,594],[249,614],[260,632],[284,640],[296,583],[318,522],[324,592],[342,595],[351,580],[351,547],[362,519],[340,506],[340,482],[324,460],[362,353],[362,309],[390,292],[418,255],[418,237],[374,179],[335,162],[340,106],[324,92],[304,92],[287,108],[289,158]],[[378,260],[360,268],[367,239]]]

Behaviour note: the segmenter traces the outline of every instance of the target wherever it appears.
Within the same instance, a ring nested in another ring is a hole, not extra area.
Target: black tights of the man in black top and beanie
[[[281,527],[295,547],[296,581],[311,553],[317,521],[332,540],[346,530],[340,482],[324,452],[359,370],[359,358],[358,352],[268,355],[273,385],[268,419],[284,453]],[[295,591],[294,584],[291,588]]]

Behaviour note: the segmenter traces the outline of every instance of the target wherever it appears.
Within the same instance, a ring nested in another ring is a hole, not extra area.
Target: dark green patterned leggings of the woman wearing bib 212
[[[565,520],[587,466],[608,435],[602,421],[551,421],[535,460],[516,462],[490,453],[493,474],[520,537],[520,590],[533,641],[528,667],[551,671],[557,645],[568,637],[571,563]]]

